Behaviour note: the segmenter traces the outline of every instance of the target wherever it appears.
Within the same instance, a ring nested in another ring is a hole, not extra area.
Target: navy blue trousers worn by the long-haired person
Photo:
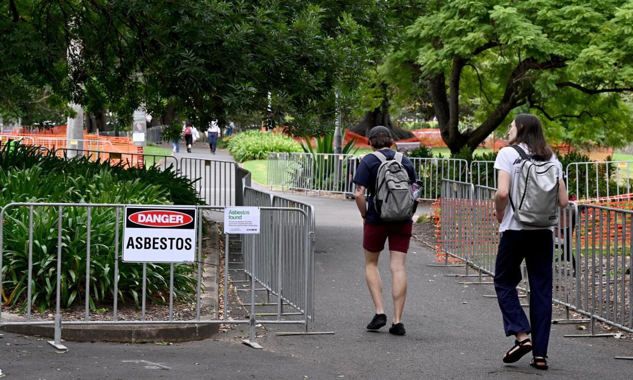
[[[552,232],[547,229],[505,231],[499,241],[494,270],[494,289],[503,314],[506,336],[532,333],[532,355],[548,355],[552,320]],[[530,321],[518,298],[521,262],[525,258],[530,283]],[[530,328],[531,322],[531,328]]]

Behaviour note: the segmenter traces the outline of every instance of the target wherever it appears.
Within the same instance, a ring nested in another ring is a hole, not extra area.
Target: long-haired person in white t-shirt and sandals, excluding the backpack
[[[522,148],[533,161],[554,162],[558,166],[558,206],[568,203],[563,168],[543,135],[541,122],[529,113],[517,115],[508,125],[510,144]],[[512,200],[517,200],[518,174],[522,158],[512,146],[499,151],[494,162],[498,170],[494,212],[499,221],[501,240],[495,263],[494,289],[506,336],[515,336],[515,345],[503,357],[503,362],[517,362],[532,352],[530,365],[548,369],[547,355],[552,314],[552,257],[554,227],[526,225],[514,217]],[[515,202],[516,203],[516,202]],[[530,320],[518,299],[517,285],[521,281],[520,265],[525,259],[530,284]],[[532,334],[532,339],[528,338]]]

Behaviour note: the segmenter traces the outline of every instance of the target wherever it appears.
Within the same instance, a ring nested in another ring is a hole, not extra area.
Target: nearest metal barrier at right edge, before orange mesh
[[[613,335],[595,334],[596,320],[633,333],[633,211],[596,205],[573,211],[577,255],[571,269],[555,273],[556,302],[589,318],[591,335],[584,336]]]

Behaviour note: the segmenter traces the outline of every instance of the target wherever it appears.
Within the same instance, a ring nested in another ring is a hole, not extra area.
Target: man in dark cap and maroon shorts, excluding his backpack
[[[396,152],[389,149],[394,143],[391,131],[381,125],[373,127],[369,132],[369,144],[373,152],[366,155],[358,165],[354,175],[356,184],[356,206],[360,216],[363,218],[363,248],[365,249],[365,277],[367,286],[372,295],[376,314],[367,325],[368,330],[377,330],[387,324],[387,316],[384,314],[382,305],[382,281],[378,272],[378,258],[380,251],[385,247],[385,241],[389,239],[389,262],[391,267],[392,288],[391,295],[394,302],[394,317],[389,333],[394,335],[404,335],[404,324],[402,323],[402,312],[404,299],[406,298],[406,272],[404,262],[411,240],[411,226],[413,220],[400,222],[385,222],[380,219],[373,203],[377,193],[376,179],[382,160],[377,155],[384,155],[387,160],[393,160]],[[399,154],[399,156],[402,156]],[[409,183],[406,184],[410,191],[410,184],[417,179],[415,168],[411,160],[402,156],[401,164],[406,169]],[[365,205],[365,189],[369,189],[369,204]],[[413,210],[411,210],[413,212]],[[412,214],[412,213],[411,213]]]

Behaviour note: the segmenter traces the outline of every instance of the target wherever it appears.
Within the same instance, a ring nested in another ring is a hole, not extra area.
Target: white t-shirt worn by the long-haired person
[[[526,144],[520,143],[519,146],[523,148],[527,155],[530,155],[530,148]],[[558,181],[563,179],[563,165],[561,165],[556,155],[552,155],[549,158],[549,162],[555,162],[558,165]],[[497,170],[503,170],[510,174],[510,198],[516,204],[517,199],[517,187],[518,187],[518,172],[521,169],[521,155],[512,148],[511,146],[506,146],[499,151],[497,155],[497,159],[494,161],[494,168]],[[506,206],[506,212],[503,214],[503,220],[501,220],[501,224],[499,225],[499,232],[507,231],[507,230],[534,230],[534,229],[544,229],[543,227],[534,227],[532,225],[525,225],[521,222],[518,222],[514,218],[514,210],[512,210],[512,205],[510,205],[510,201],[508,201],[508,205]],[[554,231],[554,227],[548,228],[551,231]]]

